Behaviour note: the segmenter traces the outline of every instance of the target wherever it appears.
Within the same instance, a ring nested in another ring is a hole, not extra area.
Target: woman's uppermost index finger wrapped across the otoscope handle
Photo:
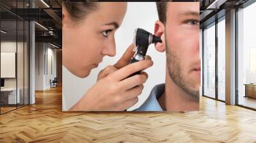
[[[153,61],[151,60],[138,61],[136,63],[129,64],[124,68],[117,70],[116,72],[112,73],[110,76],[111,78],[117,81],[120,81],[129,77],[129,75],[131,75],[132,73],[143,71],[152,65],[153,65]]]

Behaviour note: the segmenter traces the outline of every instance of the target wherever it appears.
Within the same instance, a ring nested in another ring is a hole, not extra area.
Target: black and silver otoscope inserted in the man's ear
[[[148,45],[150,45],[151,43],[162,42],[162,40],[160,37],[155,36],[154,34],[151,34],[148,31],[145,31],[144,29],[137,28],[134,31],[133,42],[133,51],[135,52],[135,54],[131,58],[130,64],[144,60],[148,50]],[[137,74],[140,74],[140,71],[132,73],[130,77]]]

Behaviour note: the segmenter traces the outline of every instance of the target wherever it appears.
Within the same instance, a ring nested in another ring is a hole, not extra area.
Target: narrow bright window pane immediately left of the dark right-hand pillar
[[[225,19],[218,23],[218,99],[225,101]]]

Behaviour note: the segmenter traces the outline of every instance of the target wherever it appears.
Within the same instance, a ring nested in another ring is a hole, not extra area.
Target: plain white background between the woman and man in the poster
[[[116,56],[105,57],[98,68],[93,69],[90,76],[80,79],[68,72],[63,66],[63,110],[68,110],[74,105],[86,91],[95,84],[97,74],[108,66],[114,64],[122,56],[128,45],[132,43],[134,29],[141,27],[151,33],[154,32],[154,23],[158,20],[156,3],[128,3],[127,13],[122,26],[116,31]],[[139,102],[130,110],[137,109],[145,102],[151,89],[157,84],[165,82],[165,53],[157,52],[154,45],[148,47],[148,55],[152,57],[154,66],[146,70],[148,80],[144,84],[143,93],[139,96]],[[63,57],[65,58],[65,57]]]

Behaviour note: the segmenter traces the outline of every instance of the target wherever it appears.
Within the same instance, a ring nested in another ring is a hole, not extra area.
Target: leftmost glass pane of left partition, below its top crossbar
[[[1,114],[16,109],[17,22],[1,21]]]

